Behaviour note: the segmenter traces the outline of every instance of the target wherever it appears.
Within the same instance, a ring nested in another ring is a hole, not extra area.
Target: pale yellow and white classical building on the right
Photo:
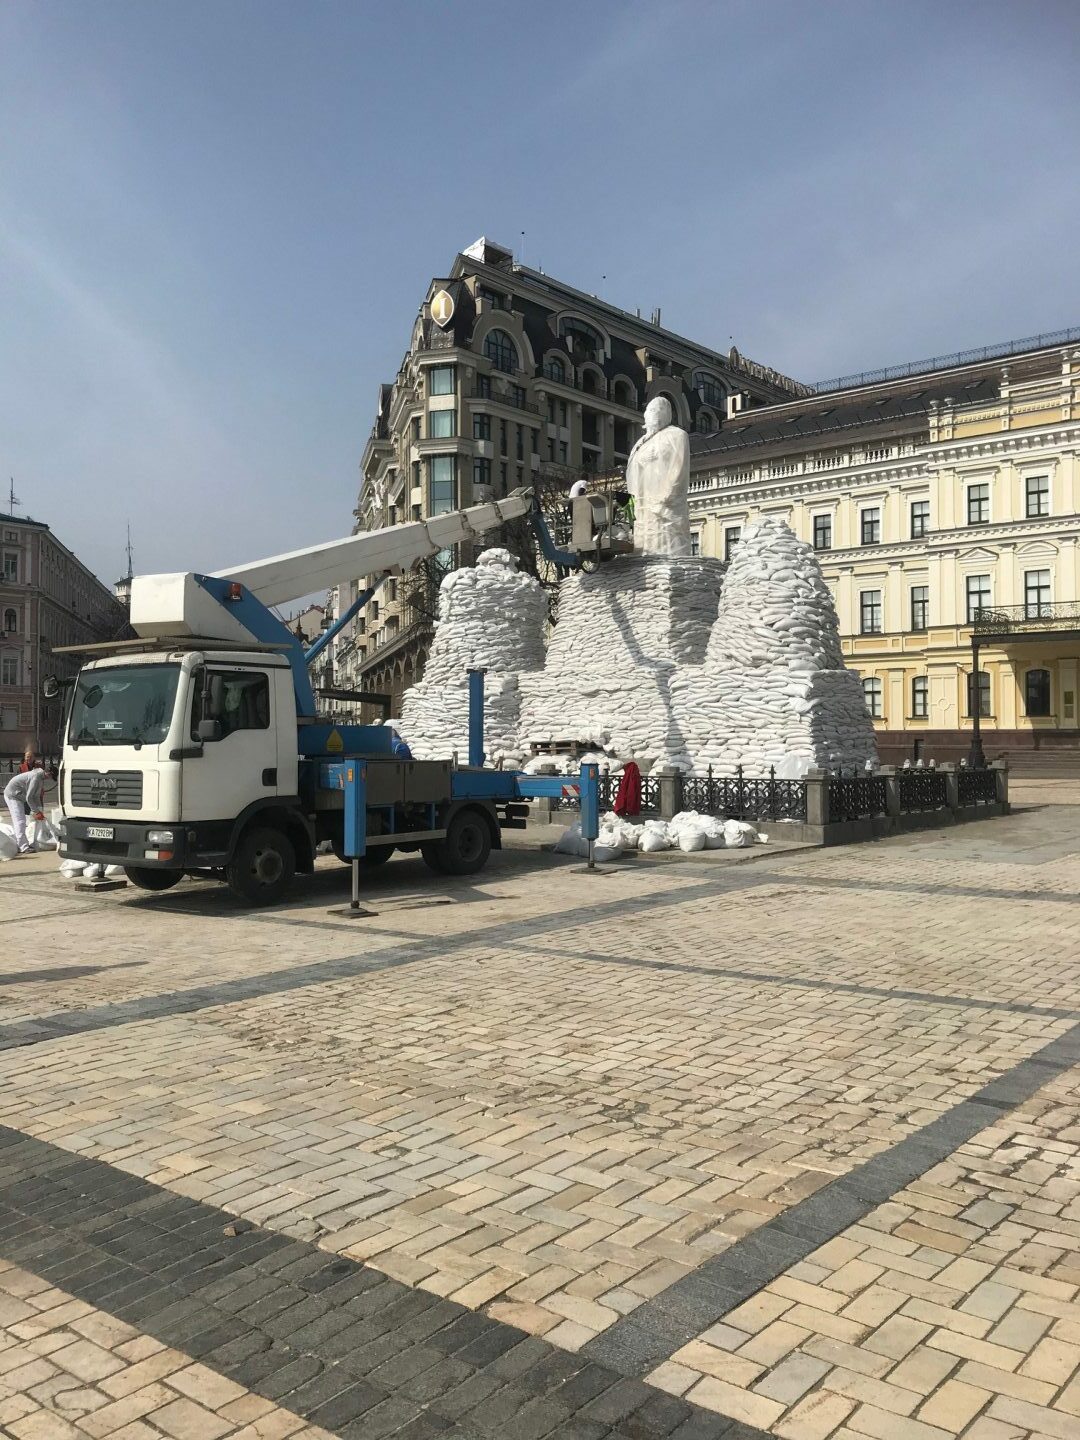
[[[959,759],[973,706],[989,757],[1080,750],[1080,350],[955,359],[693,436],[694,543],[815,547],[883,759]]]

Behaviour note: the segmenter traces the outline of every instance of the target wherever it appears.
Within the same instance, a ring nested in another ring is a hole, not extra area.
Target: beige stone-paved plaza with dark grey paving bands
[[[0,1436],[1080,1436],[1080,805],[0,873]]]

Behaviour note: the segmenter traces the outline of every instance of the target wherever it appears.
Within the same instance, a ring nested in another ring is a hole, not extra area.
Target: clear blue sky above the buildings
[[[108,580],[347,533],[482,233],[802,379],[1080,324],[1079,59],[1074,0],[3,0],[0,478]]]

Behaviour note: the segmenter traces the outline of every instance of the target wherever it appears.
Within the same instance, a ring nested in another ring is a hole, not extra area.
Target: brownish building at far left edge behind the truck
[[[0,759],[10,760],[30,743],[58,747],[62,701],[45,700],[42,681],[79,667],[53,649],[114,639],[127,609],[37,520],[0,514]]]

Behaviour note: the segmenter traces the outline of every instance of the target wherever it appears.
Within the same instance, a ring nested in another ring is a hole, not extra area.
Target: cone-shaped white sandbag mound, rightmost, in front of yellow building
[[[782,520],[747,526],[724,577],[704,662],[671,681],[690,769],[796,778],[877,760],[858,677],[814,550]]]

